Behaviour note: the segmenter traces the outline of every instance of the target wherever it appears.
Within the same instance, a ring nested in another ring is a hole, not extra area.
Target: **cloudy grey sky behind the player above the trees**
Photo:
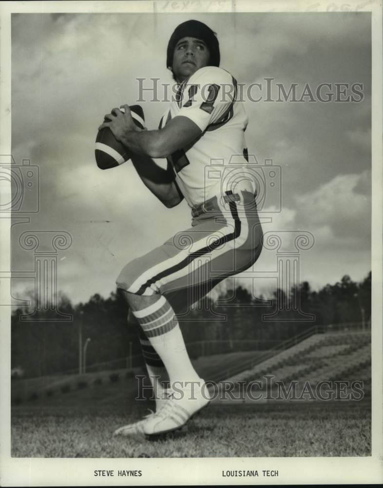
[[[13,15],[12,153],[38,165],[40,178],[38,214],[14,227],[14,269],[33,268],[21,231],[64,230],[73,244],[58,255],[58,288],[74,303],[108,296],[124,264],[190,226],[187,204],[163,207],[131,164],[99,170],[94,142],[105,113],[134,104],[137,78],[172,83],[167,42],[192,18],[217,33],[221,66],[246,86],[266,89],[273,78],[301,94],[306,83],[314,93],[321,83],[332,92],[335,83],[363,83],[362,102],[244,102],[249,154],[281,167],[282,211],[263,214],[272,217],[264,231],[313,234],[300,279],[314,288],[345,274],[363,279],[371,269],[371,33],[362,13]],[[166,102],[141,105],[156,128]],[[254,271],[273,272],[275,263],[275,251],[264,250]],[[14,293],[32,286],[15,280]]]

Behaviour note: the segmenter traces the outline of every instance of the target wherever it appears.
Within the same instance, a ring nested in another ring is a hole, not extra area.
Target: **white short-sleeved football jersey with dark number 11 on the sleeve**
[[[222,68],[200,68],[179,85],[175,101],[159,124],[161,129],[174,117],[184,116],[202,130],[201,137],[191,146],[168,157],[175,181],[191,207],[224,191],[240,189],[238,182],[244,180],[233,176],[230,169],[234,164],[234,172],[243,173],[241,168],[247,165],[244,131],[248,117],[243,103],[235,100],[236,85],[236,80]]]

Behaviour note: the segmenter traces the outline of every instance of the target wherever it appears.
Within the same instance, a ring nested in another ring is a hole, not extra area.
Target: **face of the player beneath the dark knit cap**
[[[173,74],[178,81],[189,78],[199,68],[208,65],[210,53],[204,41],[194,37],[183,37],[175,45]]]

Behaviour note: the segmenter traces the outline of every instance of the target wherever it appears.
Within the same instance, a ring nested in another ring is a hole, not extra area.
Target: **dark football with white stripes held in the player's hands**
[[[140,105],[130,107],[134,123],[141,129],[145,128],[144,111]],[[123,109],[120,109],[122,112]],[[107,119],[104,122],[109,122]],[[131,158],[131,151],[118,142],[109,127],[97,132],[95,147],[96,163],[100,169],[109,169],[126,163]]]

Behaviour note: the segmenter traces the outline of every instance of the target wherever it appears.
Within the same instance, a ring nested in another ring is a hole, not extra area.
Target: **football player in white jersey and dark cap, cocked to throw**
[[[128,105],[124,113],[113,109],[105,116],[110,122],[99,127],[110,127],[134,153],[134,167],[162,203],[173,207],[185,198],[192,213],[190,228],[128,263],[116,280],[140,325],[156,411],[115,434],[169,432],[208,405],[208,390],[189,359],[172,304],[202,298],[226,277],[248,269],[261,251],[255,188],[246,177],[248,118],[236,100],[235,79],[219,65],[215,33],[197,20],[181,23],[167,49],[178,90],[159,128],[139,129]],[[167,158],[168,169],[152,158]],[[218,161],[218,170],[212,161]]]

